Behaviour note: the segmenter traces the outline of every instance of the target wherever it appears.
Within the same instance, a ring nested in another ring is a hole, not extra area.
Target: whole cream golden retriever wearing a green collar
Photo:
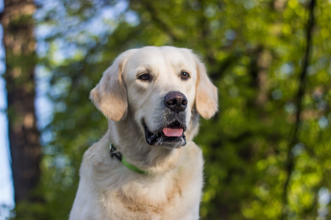
[[[218,110],[217,89],[190,49],[121,53],[90,99],[108,131],[84,154],[70,219],[198,219],[199,115]]]

